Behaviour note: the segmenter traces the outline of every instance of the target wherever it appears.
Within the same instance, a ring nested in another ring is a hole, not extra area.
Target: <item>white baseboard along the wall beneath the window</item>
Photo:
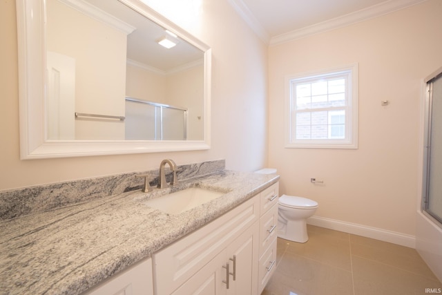
[[[374,238],[384,242],[392,242],[397,245],[416,249],[415,236],[397,233],[396,231],[367,227],[365,225],[358,225],[356,223],[344,222],[320,216],[311,216],[310,218],[307,218],[307,224],[325,227],[326,229],[334,229],[336,231],[343,231],[348,234],[365,236],[366,238]]]

